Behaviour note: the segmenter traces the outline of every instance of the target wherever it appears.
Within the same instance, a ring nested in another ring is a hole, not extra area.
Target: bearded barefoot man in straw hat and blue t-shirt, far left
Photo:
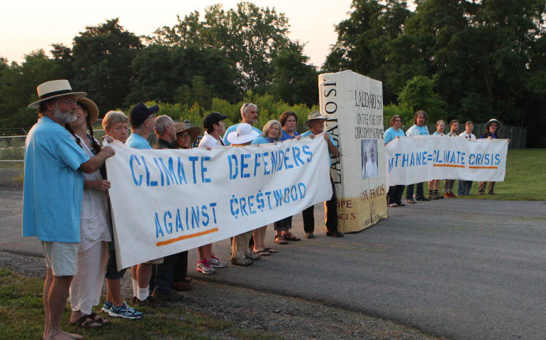
[[[86,95],[72,91],[67,80],[46,81],[38,86],[39,100],[28,106],[38,109],[40,119],[25,142],[23,236],[37,236],[45,257],[43,339],[82,337],[60,325],[77,268],[82,171],[91,174],[114,154],[104,147],[89,157],[64,128],[77,119],[77,101]]]

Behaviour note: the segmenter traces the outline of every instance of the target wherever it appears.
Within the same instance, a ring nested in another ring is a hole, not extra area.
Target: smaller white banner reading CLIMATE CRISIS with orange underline
[[[504,181],[508,140],[401,137],[385,147],[387,186],[433,179]]]

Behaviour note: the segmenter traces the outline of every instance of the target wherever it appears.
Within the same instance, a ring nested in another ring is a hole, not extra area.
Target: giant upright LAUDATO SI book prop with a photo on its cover
[[[352,71],[318,76],[325,131],[338,141],[332,174],[338,194],[340,232],[357,232],[387,217],[383,86]]]

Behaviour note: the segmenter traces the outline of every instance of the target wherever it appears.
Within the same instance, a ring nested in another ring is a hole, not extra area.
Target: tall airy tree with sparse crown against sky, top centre
[[[240,2],[228,11],[221,4],[208,6],[204,21],[199,21],[197,11],[184,20],[178,17],[177,25],[158,28],[149,40],[221,51],[238,70],[243,91],[264,91],[272,80],[272,60],[289,46],[288,29],[284,13]]]

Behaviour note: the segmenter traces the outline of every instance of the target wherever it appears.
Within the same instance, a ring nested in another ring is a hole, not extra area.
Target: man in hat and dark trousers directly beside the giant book
[[[339,157],[340,152],[338,146],[330,135],[329,132],[324,131],[324,122],[326,117],[321,115],[318,111],[313,111],[307,116],[307,120],[303,125],[310,128],[307,132],[303,132],[301,137],[315,137],[324,132],[324,140],[328,143],[328,151],[333,157]],[[330,166],[332,165],[332,159],[330,158]],[[326,236],[330,237],[343,237],[343,234],[338,231],[338,197],[335,196],[335,186],[332,177],[330,176],[330,185],[332,186],[332,198],[324,203],[325,223],[326,223]],[[312,239],[315,230],[315,215],[314,205],[303,210],[303,230],[305,231],[305,237]]]

